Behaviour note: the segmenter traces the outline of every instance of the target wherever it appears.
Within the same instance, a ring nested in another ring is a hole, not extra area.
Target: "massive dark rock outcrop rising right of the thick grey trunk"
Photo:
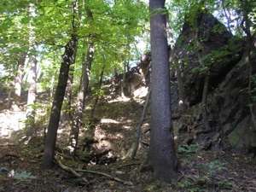
[[[199,36],[203,39],[202,49],[193,49],[191,45],[195,41],[195,27],[189,22],[185,22],[173,49],[174,62],[179,63],[182,69],[185,101],[189,103],[189,108],[183,112],[185,118],[179,119],[178,125],[192,134],[195,142],[204,148],[220,148],[229,144],[233,148],[256,148],[256,129],[248,108],[252,98],[248,94],[248,63],[242,49],[244,41],[233,37],[213,15],[200,13],[197,20]],[[198,51],[210,66],[207,109],[211,130],[206,130],[202,118],[201,98],[206,72],[200,71]],[[211,57],[214,58],[212,61]],[[252,70],[254,75],[255,65]]]

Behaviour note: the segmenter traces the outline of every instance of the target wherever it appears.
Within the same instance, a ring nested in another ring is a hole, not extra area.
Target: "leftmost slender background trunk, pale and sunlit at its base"
[[[26,61],[26,53],[21,53],[18,61],[17,75],[15,76],[15,96],[21,95],[21,84],[24,75],[24,66]]]

